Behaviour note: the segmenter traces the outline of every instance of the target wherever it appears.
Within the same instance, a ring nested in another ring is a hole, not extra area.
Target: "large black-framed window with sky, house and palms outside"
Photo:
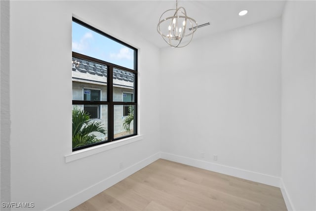
[[[76,18],[73,151],[137,134],[137,49]]]

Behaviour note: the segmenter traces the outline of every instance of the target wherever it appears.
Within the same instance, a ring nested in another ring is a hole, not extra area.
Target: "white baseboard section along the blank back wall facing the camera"
[[[211,170],[231,176],[236,176],[242,179],[247,179],[251,180],[254,182],[259,182],[275,187],[280,187],[280,178],[276,176],[271,176],[267,174],[262,174],[254,171],[249,171],[249,170],[244,170],[244,169],[237,169],[234,167],[228,167],[228,166],[223,166],[219,164],[214,164],[210,162],[205,162],[201,160],[196,160],[188,157],[183,157],[179,155],[174,155],[174,154],[169,154],[169,153],[160,153],[160,158],[166,159],[169,161],[197,167],[200,169],[206,169],[206,170]]]

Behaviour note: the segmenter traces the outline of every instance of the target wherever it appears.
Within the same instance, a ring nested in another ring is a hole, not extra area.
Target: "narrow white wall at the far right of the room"
[[[288,1],[282,16],[282,191],[293,210],[316,210],[315,10]]]

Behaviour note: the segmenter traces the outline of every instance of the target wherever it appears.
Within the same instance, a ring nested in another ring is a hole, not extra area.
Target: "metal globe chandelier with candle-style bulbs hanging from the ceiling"
[[[171,47],[185,47],[193,39],[197,30],[197,21],[187,16],[184,7],[168,9],[162,13],[157,25],[157,31],[165,42]]]

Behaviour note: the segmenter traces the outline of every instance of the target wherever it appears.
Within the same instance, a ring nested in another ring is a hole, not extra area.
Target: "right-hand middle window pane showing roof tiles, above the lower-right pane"
[[[113,69],[113,101],[135,102],[134,100],[135,74]]]

